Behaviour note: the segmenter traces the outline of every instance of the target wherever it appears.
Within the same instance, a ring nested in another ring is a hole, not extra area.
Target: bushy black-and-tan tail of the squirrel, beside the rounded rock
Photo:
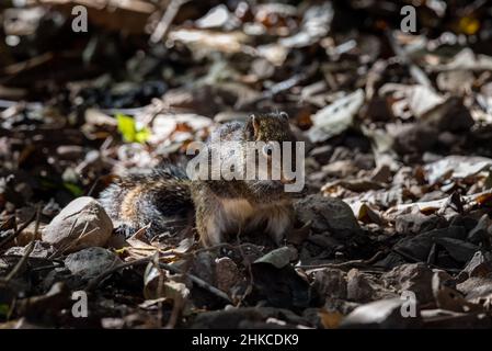
[[[127,236],[147,225],[149,237],[173,231],[193,211],[190,180],[176,166],[128,173],[104,190],[100,202]]]

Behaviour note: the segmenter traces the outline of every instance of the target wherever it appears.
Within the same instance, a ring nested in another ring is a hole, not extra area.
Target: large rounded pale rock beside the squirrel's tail
[[[73,200],[53,218],[43,231],[43,241],[64,252],[103,247],[113,231],[113,222],[92,197]]]

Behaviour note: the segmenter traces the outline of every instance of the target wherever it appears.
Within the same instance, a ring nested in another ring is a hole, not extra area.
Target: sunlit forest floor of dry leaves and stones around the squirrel
[[[0,328],[492,327],[491,7],[251,3],[0,5]],[[88,197],[271,111],[306,145],[281,248]]]

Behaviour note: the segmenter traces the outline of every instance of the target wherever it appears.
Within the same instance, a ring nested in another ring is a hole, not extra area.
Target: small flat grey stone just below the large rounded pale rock
[[[96,278],[102,272],[121,263],[122,260],[116,254],[99,247],[70,253],[65,259],[65,267],[83,280]]]

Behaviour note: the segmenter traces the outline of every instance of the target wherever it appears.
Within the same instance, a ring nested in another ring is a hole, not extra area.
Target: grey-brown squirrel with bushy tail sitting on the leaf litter
[[[219,145],[217,140],[238,143]],[[226,123],[211,133],[205,145],[208,150],[220,148],[222,162],[234,158],[243,166],[249,141],[266,145],[259,154],[270,166],[271,141],[296,141],[288,115],[252,114],[245,122]],[[207,161],[210,165],[209,158]],[[294,222],[291,199],[283,188],[288,181],[282,171],[281,176],[279,180],[203,180],[188,178],[182,168],[167,166],[127,174],[104,190],[100,201],[113,220],[131,231],[150,224],[146,231],[149,237],[164,233],[170,223],[194,212],[196,230],[205,247],[222,244],[238,233],[261,229],[281,245]]]

